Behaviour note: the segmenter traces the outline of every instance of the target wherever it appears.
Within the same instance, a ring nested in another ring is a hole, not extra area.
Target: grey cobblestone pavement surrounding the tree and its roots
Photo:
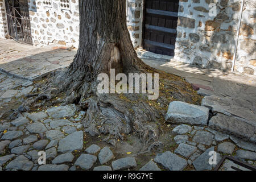
[[[26,94],[39,91],[31,80],[67,66],[75,51],[28,46],[15,52],[16,47],[11,45],[15,53],[8,53],[9,48],[4,47],[1,47],[5,53],[1,52],[0,68],[9,68],[10,75],[0,73],[0,170],[212,170],[216,165],[208,162],[210,151],[217,152],[217,162],[222,156],[231,155],[253,166],[256,164],[253,77],[238,79],[236,75],[234,78],[217,76],[217,72],[216,77],[213,73],[200,75],[193,73],[197,68],[144,60],[152,67],[185,77],[195,89],[200,88],[198,92],[205,97],[201,106],[172,102],[166,114],[171,131],[163,137],[164,150],[155,155],[133,156],[140,146],[135,138],[127,136],[126,142],[119,141],[117,147],[113,147],[104,142],[103,135],[91,137],[81,123],[86,112],[77,111],[72,104],[26,112],[9,121],[7,115],[11,109],[17,109]],[[31,61],[27,62],[24,57],[30,57]],[[34,70],[42,68],[45,61],[48,64],[45,72]],[[54,61],[59,61],[58,67],[51,68]],[[31,71],[34,75],[30,75]],[[174,119],[177,113],[171,109],[177,105],[182,108],[178,113],[181,121]],[[46,165],[38,164],[39,151],[46,152]],[[230,169],[229,164],[226,166],[222,170]]]

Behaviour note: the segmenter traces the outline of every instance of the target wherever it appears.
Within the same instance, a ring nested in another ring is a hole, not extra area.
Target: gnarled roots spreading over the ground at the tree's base
[[[160,134],[168,130],[164,122],[168,104],[174,100],[193,104],[201,101],[183,78],[159,73],[159,98],[151,101],[147,94],[98,94],[97,82],[86,80],[88,77],[82,73],[67,78],[67,72],[57,71],[46,84],[39,85],[40,93],[27,95],[26,102],[11,114],[11,119],[32,108],[75,103],[78,110],[86,111],[82,124],[90,135],[104,134],[105,141],[115,146],[118,140],[126,140],[127,135],[133,134],[143,143],[139,154],[157,151],[163,145],[158,140]],[[60,94],[64,97],[56,100]]]

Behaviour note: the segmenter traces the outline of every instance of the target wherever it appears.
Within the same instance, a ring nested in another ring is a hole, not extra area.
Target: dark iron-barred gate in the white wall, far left
[[[5,0],[9,36],[32,44],[27,0]]]

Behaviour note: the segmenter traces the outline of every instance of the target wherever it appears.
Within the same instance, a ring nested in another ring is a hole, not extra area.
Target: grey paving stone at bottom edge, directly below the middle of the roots
[[[135,158],[131,158],[131,157],[114,160],[112,162],[113,171],[133,168],[136,166],[137,166],[137,163],[136,163]]]

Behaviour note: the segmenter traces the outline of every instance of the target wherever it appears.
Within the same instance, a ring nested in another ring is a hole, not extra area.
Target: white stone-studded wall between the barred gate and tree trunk
[[[28,5],[34,45],[79,46],[78,0],[28,0]]]

